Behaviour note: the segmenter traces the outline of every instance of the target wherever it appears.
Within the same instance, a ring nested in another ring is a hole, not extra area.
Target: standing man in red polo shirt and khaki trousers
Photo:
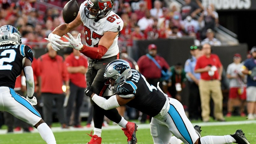
[[[195,73],[201,74],[199,80],[199,92],[204,122],[210,120],[210,99],[214,102],[214,117],[218,121],[225,121],[222,111],[221,75],[223,66],[218,55],[211,54],[211,45],[202,45],[203,56],[199,57],[195,67]]]

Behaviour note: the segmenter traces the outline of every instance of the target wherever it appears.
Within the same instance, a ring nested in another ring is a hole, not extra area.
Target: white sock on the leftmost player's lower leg
[[[56,144],[56,140],[52,133],[52,130],[46,123],[42,123],[37,126],[37,130],[47,144]]]

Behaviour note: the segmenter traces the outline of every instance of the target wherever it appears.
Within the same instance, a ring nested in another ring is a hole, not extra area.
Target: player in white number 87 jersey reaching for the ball
[[[72,47],[79,50],[82,54],[89,57],[89,66],[86,72],[87,83],[92,83],[94,92],[103,96],[106,86],[106,79],[103,77],[105,68],[109,62],[119,59],[119,48],[117,45],[119,32],[123,28],[122,19],[112,11],[114,0],[87,0],[80,6],[78,16],[69,24],[58,26],[48,39],[55,51],[61,46]],[[79,33],[75,39],[70,33],[75,27],[83,24],[86,44],[81,42]],[[63,36],[68,34],[70,38]],[[68,42],[60,40],[61,36]],[[135,123],[127,122],[116,109],[104,110],[91,101],[93,105],[94,135],[90,135],[89,144],[101,143],[101,127],[104,114],[112,121],[122,127],[127,136],[128,144],[136,143]]]

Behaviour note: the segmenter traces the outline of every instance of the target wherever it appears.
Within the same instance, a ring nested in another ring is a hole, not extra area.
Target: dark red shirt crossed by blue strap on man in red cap
[[[155,60],[161,67],[169,69],[170,66],[163,57],[157,55]],[[146,55],[141,56],[138,59],[137,64],[139,66],[140,73],[144,75],[145,78],[161,78],[161,70]]]

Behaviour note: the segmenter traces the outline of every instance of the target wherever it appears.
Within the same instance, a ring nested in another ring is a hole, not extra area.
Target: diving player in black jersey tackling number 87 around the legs
[[[156,88],[149,85],[145,77],[137,70],[131,69],[129,63],[124,60],[110,62],[104,77],[109,79],[112,87],[117,87],[114,96],[106,100],[96,95],[91,86],[85,89],[85,94],[105,110],[126,104],[152,116],[150,132],[154,144],[182,143],[173,141],[172,134],[186,144],[250,144],[241,129],[232,135],[200,138],[200,131],[198,133],[194,129],[182,104],[176,99],[168,98],[159,86]]]

